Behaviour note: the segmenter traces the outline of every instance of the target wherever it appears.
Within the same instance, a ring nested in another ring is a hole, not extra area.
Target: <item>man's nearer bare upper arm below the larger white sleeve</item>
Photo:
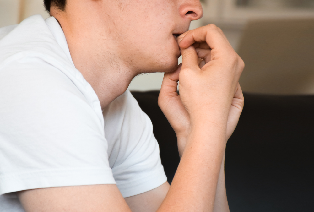
[[[131,212],[115,184],[38,188],[18,197],[25,212]]]

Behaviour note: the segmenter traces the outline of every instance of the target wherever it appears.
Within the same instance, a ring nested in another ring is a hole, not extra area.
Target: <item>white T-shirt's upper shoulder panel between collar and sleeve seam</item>
[[[41,15],[0,29],[0,68],[22,57],[38,57],[47,63],[72,65]]]

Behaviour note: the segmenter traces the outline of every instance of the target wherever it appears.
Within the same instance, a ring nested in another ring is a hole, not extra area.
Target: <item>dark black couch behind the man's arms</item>
[[[180,159],[176,134],[157,104],[159,91],[132,94],[153,122],[171,182]],[[230,211],[314,211],[314,96],[244,94],[244,98],[238,126],[226,147]]]

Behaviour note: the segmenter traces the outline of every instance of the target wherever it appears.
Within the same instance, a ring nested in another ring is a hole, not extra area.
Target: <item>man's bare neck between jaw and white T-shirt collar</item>
[[[127,90],[137,73],[121,59],[122,55],[116,51],[118,44],[110,33],[97,31],[95,22],[60,12],[51,11],[51,16],[60,23],[75,68],[95,90],[103,109]]]

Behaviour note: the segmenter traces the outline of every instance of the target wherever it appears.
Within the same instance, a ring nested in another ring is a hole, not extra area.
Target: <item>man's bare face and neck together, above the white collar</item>
[[[136,75],[174,71],[180,50],[173,34],[187,31],[203,10],[198,0],[68,0],[65,12],[52,7],[51,15],[103,108]]]

